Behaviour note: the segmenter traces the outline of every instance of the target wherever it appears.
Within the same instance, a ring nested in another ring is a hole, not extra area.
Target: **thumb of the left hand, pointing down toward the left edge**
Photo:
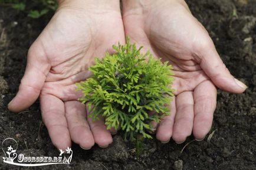
[[[42,48],[34,44],[28,51],[27,66],[19,85],[19,91],[8,104],[9,111],[21,112],[31,106],[40,95],[46,75],[50,70],[50,64]]]

